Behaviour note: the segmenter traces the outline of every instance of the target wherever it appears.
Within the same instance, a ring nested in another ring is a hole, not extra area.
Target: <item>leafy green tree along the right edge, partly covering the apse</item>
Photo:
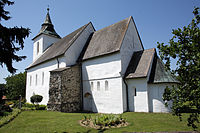
[[[188,126],[197,128],[200,113],[200,29],[199,8],[193,11],[194,19],[188,26],[173,30],[169,45],[158,43],[159,54],[170,70],[171,59],[177,60],[173,71],[180,81],[176,87],[166,88],[165,101],[172,100],[172,111],[181,118],[182,113],[191,113]]]

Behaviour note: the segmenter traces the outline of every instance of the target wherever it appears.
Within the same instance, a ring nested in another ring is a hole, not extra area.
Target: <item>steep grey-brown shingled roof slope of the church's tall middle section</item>
[[[130,18],[96,31],[83,56],[83,60],[120,50]]]

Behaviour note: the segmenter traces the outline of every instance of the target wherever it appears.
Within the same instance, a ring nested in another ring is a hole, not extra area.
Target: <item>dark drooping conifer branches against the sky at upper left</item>
[[[9,12],[4,10],[6,5],[13,5],[14,2],[9,0],[0,0],[0,65],[5,64],[10,73],[15,73],[13,61],[19,62],[26,56],[18,56],[17,51],[24,48],[24,39],[28,37],[30,29],[17,26],[7,28],[1,24],[2,20],[9,20]]]

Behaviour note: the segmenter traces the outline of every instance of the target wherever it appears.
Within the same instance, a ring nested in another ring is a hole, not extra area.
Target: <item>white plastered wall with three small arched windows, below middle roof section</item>
[[[99,113],[123,112],[123,81],[119,72],[121,72],[119,53],[83,61],[82,80],[84,110]],[[106,81],[108,82],[108,90],[105,90]],[[93,88],[91,90],[92,82]],[[100,84],[99,89],[97,87],[98,82]],[[87,102],[87,97],[84,97],[86,93],[92,95],[92,102]]]

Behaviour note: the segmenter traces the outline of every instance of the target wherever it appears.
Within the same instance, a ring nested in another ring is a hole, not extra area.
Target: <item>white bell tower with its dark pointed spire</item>
[[[32,39],[33,44],[33,61],[44,53],[49,46],[57,42],[61,37],[56,33],[47,8],[47,15],[41,26],[39,33]]]

